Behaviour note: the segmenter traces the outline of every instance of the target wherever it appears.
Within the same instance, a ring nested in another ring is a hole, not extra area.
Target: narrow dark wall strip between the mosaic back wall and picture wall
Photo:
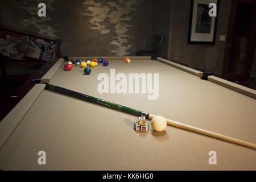
[[[160,57],[164,58],[168,57],[169,51],[170,10],[171,0],[153,1],[152,34],[164,36],[163,45],[160,49]]]

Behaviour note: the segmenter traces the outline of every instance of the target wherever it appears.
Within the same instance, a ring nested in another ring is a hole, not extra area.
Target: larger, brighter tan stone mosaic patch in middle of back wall
[[[86,12],[82,15],[90,18],[92,30],[100,32],[101,35],[114,35],[110,37],[113,55],[131,55],[132,36],[129,28],[132,27],[131,12],[136,10],[134,6],[138,4],[137,0],[103,2],[85,1]]]

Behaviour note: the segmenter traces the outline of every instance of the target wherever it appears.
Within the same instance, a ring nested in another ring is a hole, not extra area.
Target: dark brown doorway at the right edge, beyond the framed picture
[[[250,80],[256,43],[256,1],[233,0],[229,16],[222,77]]]

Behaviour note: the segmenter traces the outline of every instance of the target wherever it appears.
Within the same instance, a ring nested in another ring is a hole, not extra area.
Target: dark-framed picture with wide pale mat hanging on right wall
[[[209,16],[209,3],[216,3],[217,16]],[[188,44],[214,44],[218,17],[218,0],[191,0]]]

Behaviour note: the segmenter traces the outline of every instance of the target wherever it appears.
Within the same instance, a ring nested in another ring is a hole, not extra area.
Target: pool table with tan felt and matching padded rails
[[[68,57],[86,61],[95,57]],[[256,142],[255,90],[158,57],[103,57],[84,75],[65,71],[59,59],[43,78],[50,84],[102,98],[188,125]],[[100,73],[159,73],[159,97],[148,93],[98,93]],[[2,170],[256,170],[256,150],[167,126],[135,131],[138,117],[45,89],[36,84],[0,122]],[[147,121],[150,123],[150,121]],[[39,165],[39,151],[46,165]],[[209,164],[209,152],[217,164]]]

